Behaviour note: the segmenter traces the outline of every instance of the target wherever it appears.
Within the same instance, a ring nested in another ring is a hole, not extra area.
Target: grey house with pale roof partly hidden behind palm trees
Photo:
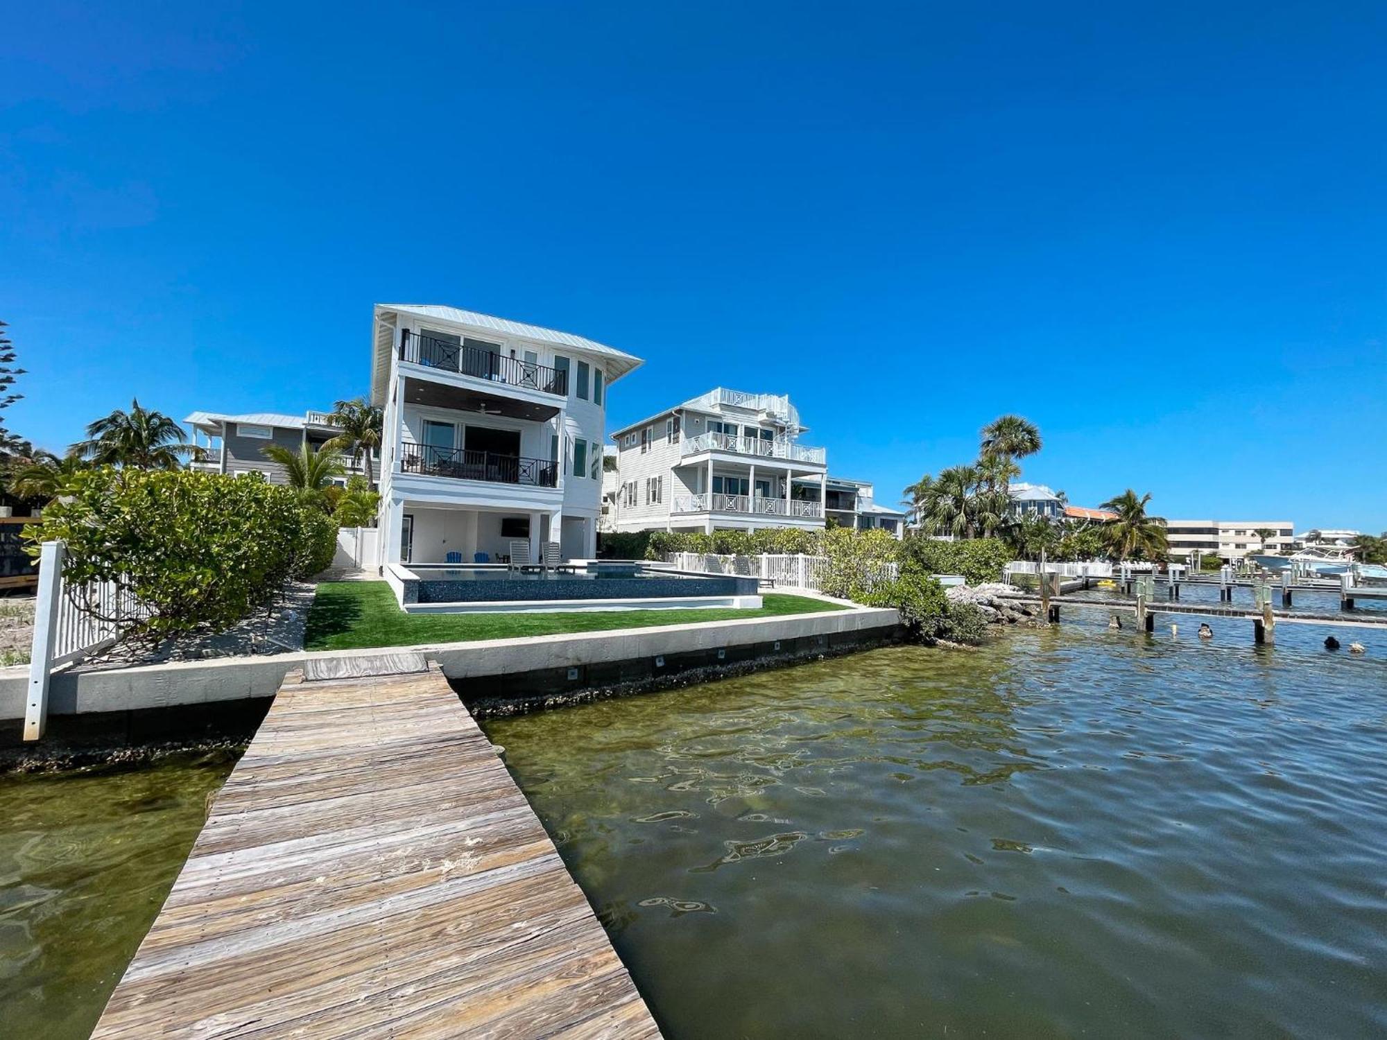
[[[201,456],[189,463],[189,469],[209,473],[264,473],[272,484],[286,481],[284,467],[265,458],[265,448],[277,444],[297,452],[302,445],[318,451],[341,433],[329,422],[327,412],[307,412],[305,415],[279,415],[276,412],[252,412],[248,415],[225,415],[222,412],[193,412],[183,423],[193,430],[193,442],[201,448]],[[345,484],[347,477],[365,473],[363,459],[358,455],[340,455],[337,459],[345,476],[334,483]],[[379,476],[379,466],[372,458],[372,477]]]

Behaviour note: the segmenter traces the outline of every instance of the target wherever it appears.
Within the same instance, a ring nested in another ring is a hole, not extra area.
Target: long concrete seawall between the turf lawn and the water
[[[503,697],[616,685],[657,677],[662,671],[752,661],[761,656],[803,655],[816,646],[836,649],[854,642],[885,641],[893,638],[897,625],[895,610],[854,607],[818,614],[391,649],[427,652],[465,699],[473,695]],[[49,713],[50,717],[64,717],[225,706],[237,700],[265,699],[268,703],[293,668],[302,668],[313,660],[380,653],[381,648],[372,648],[129,668],[69,668],[53,675]],[[660,657],[664,661],[657,664]],[[26,691],[26,666],[0,670],[0,743],[19,740]]]

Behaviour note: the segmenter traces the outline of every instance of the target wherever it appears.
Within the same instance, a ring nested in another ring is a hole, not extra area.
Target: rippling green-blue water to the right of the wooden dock
[[[1103,621],[487,729],[675,1040],[1387,1034],[1387,634]]]

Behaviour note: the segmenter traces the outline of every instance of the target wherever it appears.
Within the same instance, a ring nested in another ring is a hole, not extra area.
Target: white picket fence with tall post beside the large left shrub
[[[53,670],[105,649],[132,623],[150,616],[129,591],[114,581],[69,585],[62,577],[64,557],[62,542],[43,542],[39,551],[29,693],[24,706],[25,740],[43,736]]]

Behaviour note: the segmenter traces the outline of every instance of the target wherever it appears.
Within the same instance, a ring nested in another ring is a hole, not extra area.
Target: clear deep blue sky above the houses
[[[789,392],[895,501],[1387,527],[1387,6],[0,0],[10,410],[365,392],[376,301]],[[212,11],[211,8],[219,8]]]

